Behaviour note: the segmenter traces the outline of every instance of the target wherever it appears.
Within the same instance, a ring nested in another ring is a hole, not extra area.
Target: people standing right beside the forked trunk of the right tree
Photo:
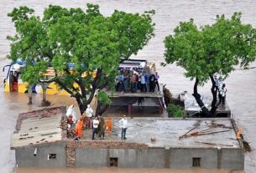
[[[214,81],[215,81],[215,87],[217,88],[217,91],[218,91],[218,99],[219,99],[218,105],[221,104],[222,107],[225,107],[226,94],[227,94],[226,84],[223,84],[222,77],[217,78],[217,75],[214,76]]]

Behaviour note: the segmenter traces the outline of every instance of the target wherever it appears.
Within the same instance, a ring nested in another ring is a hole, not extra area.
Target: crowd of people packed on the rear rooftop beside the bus
[[[135,69],[121,70],[117,77],[116,91],[118,92],[154,92],[159,90],[159,74],[146,73],[143,70]]]

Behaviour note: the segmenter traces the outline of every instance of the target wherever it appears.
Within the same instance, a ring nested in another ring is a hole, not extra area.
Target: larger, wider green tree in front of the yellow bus
[[[50,5],[39,18],[32,8],[14,8],[8,13],[16,28],[16,35],[8,36],[8,58],[26,62],[21,77],[29,84],[38,84],[46,69],[54,69],[50,81],[76,98],[82,113],[97,89],[112,87],[119,62],[138,53],[154,36],[153,14],[116,10],[104,17],[93,4],[87,4],[86,12]],[[106,93],[100,97],[107,102]]]

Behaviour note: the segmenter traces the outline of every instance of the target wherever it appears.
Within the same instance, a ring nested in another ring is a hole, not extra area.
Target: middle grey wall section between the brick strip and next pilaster
[[[76,149],[76,167],[108,167],[110,159],[118,158],[118,167],[163,168],[165,149]]]

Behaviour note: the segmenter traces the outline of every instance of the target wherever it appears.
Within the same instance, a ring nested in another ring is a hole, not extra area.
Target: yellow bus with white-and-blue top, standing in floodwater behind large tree
[[[26,64],[24,61],[17,61],[15,64],[8,64],[3,67],[3,72],[7,72],[7,76],[4,79],[4,91],[5,92],[18,92],[18,93],[27,93],[27,83],[25,83],[20,78],[20,68],[24,67]],[[69,67],[74,67],[74,64],[69,64]],[[144,70],[148,73],[154,73],[155,72],[155,64],[151,62],[147,62],[147,60],[141,60],[141,59],[128,59],[124,60],[120,66],[119,70],[122,69],[137,69],[137,70]],[[95,73],[96,74],[96,73]],[[92,75],[95,75],[92,74]],[[47,69],[46,73],[44,74],[46,78],[52,78],[55,76],[55,71],[53,69]],[[86,76],[86,74],[84,74]],[[76,84],[75,84],[76,85]],[[40,84],[34,84],[32,86],[33,93],[42,94],[43,89]],[[55,82],[51,82],[48,84],[46,89],[46,94],[60,94],[60,95],[69,95],[67,92],[65,92],[62,89],[59,89],[58,85],[55,84]]]

